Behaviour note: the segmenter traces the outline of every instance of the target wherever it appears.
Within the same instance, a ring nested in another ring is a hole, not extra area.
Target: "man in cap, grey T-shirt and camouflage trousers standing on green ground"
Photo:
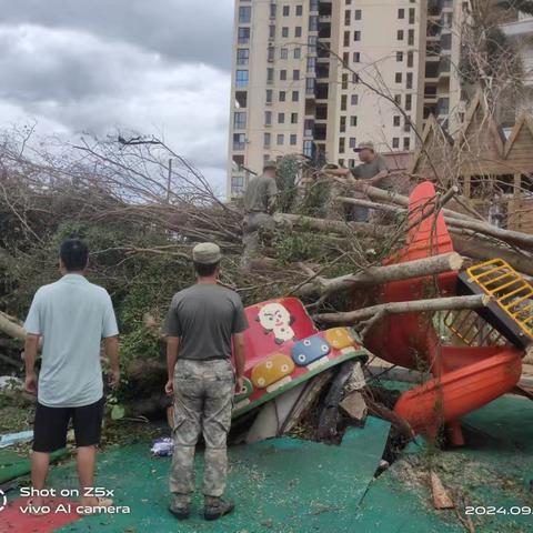
[[[169,371],[164,389],[167,394],[174,395],[174,453],[170,473],[174,497],[170,512],[179,520],[190,516],[194,450],[203,432],[204,517],[217,520],[234,507],[222,495],[233,394],[243,386],[248,321],[240,296],[218,284],[220,248],[210,242],[197,244],[192,260],[197,283],[173,296],[163,328]],[[235,372],[231,364],[232,344]]]

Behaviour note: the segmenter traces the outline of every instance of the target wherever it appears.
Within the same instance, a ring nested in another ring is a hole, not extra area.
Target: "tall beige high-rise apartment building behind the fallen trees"
[[[350,165],[363,140],[412,151],[411,124],[459,109],[464,3],[235,0],[228,198],[285,154]]]

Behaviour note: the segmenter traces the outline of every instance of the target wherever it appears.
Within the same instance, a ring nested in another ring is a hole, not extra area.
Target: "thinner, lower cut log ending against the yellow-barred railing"
[[[490,296],[485,294],[476,294],[473,296],[451,296],[414,300],[412,302],[391,302],[343,313],[315,314],[314,320],[325,324],[354,324],[358,321],[373,316],[375,313],[398,314],[423,311],[449,311],[454,309],[479,309],[487,305],[490,301]]]

